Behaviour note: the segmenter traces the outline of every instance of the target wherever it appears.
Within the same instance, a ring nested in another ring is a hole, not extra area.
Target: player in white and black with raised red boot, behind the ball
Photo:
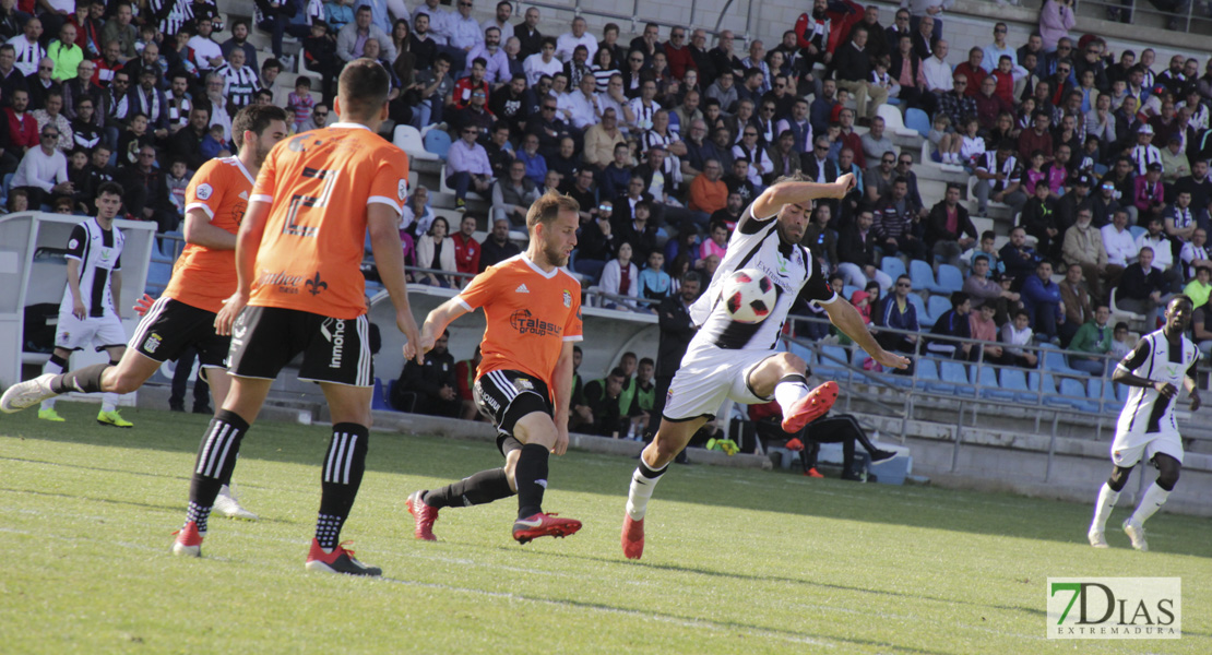
[[[728,240],[728,251],[707,293],[691,305],[691,320],[699,326],[669,385],[661,427],[640,456],[623,518],[623,553],[639,559],[644,553],[644,515],[653,488],[665,467],[725,400],[744,404],[777,401],[783,409],[783,430],[799,432],[833,407],[836,383],[808,391],[804,360],[774,352],[791,304],[802,294],[825,309],[829,320],[888,368],[905,368],[909,360],[886,352],[863,324],[858,310],[829,288],[821,266],[802,246],[812,202],[842,197],[854,185],[850,173],[833,184],[804,182],[796,173],[781,178],[745,209]],[[741,269],[759,269],[774,282],[778,300],[761,323],[733,322],[719,301],[728,276]],[[802,291],[801,291],[802,289]]]

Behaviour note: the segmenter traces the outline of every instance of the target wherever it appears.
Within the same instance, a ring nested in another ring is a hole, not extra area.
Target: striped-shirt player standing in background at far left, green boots
[[[62,423],[64,419],[55,410],[55,396],[44,393],[30,397],[24,389],[44,389],[46,383],[63,373],[68,367],[68,357],[76,350],[92,345],[97,352],[109,355],[108,364],[96,364],[88,368],[114,366],[126,352],[126,329],[115,308],[121,305],[122,289],[122,246],[126,237],[114,226],[114,218],[122,206],[122,188],[108,182],[97,188],[97,218],[90,218],[76,225],[68,239],[68,285],[59,304],[59,321],[55,331],[55,351],[42,367],[42,374],[33,380],[12,385],[0,398],[0,409],[16,412],[41,402],[38,418]],[[101,412],[97,423],[113,427],[131,427],[131,421],[118,413],[118,396],[125,391],[91,389],[78,385],[59,384],[58,393],[79,391],[95,393],[104,391],[101,397]],[[56,395],[58,395],[56,393]]]

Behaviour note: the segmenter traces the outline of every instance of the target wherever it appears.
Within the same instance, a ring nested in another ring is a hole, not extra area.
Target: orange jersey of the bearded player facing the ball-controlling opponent
[[[459,294],[463,309],[484,308],[487,327],[476,379],[490,370],[521,370],[547,383],[565,341],[581,340],[581,282],[562,269],[550,274],[525,254],[475,276]]]

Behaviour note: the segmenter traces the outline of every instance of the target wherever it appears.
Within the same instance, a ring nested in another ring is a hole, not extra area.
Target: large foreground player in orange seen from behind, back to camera
[[[339,544],[366,470],[371,369],[365,283],[359,269],[370,232],[396,326],[416,350],[396,222],[407,197],[404,151],[376,132],[388,115],[390,77],[372,59],[355,59],[338,80],[333,109],[342,121],[275,146],[253,186],[236,235],[236,291],[215,328],[231,335],[231,389],[198,452],[185,525],[172,551],[201,555],[206,519],[240,442],[278,373],[303,354],[299,379],[320,384],[332,414],[321,471],[320,512],[308,570],[379,575]]]

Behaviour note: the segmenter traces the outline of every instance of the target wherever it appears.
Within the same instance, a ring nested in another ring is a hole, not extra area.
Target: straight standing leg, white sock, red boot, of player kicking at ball
[[[631,473],[631,487],[627,493],[623,534],[619,536],[623,555],[628,559],[639,559],[644,556],[644,516],[648,511],[648,499],[661,482],[661,476],[705,423],[707,416],[688,420],[670,420],[664,416],[652,443],[640,453],[640,465]]]

